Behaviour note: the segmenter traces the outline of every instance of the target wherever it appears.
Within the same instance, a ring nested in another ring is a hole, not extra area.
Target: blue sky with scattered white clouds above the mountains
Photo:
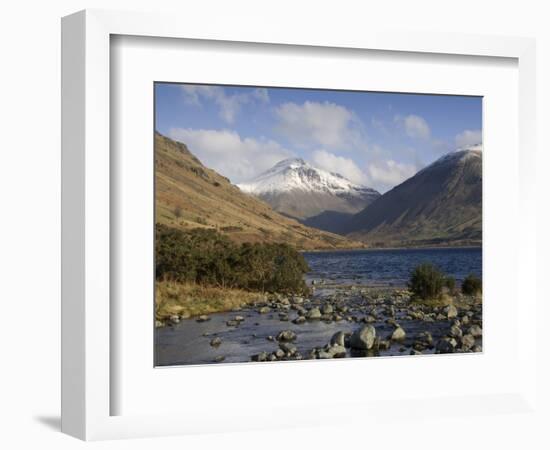
[[[300,157],[381,193],[481,143],[482,98],[155,84],[155,129],[233,183]]]

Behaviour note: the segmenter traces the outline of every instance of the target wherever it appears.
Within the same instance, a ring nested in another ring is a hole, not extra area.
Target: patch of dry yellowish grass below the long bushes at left
[[[155,315],[165,320],[171,315],[193,317],[230,311],[261,300],[262,294],[240,289],[222,289],[174,281],[157,281]]]

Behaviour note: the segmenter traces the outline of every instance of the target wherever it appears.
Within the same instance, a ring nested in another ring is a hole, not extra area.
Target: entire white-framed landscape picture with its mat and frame
[[[64,432],[532,410],[531,40],[62,31]]]

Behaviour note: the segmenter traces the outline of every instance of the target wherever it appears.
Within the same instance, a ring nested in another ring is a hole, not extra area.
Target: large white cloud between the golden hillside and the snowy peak
[[[173,128],[169,136],[232,183],[247,181],[292,156],[273,140],[243,138],[232,130]]]

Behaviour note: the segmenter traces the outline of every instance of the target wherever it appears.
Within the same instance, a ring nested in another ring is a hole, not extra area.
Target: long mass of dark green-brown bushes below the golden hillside
[[[210,229],[156,226],[156,278],[251,291],[307,294],[309,267],[287,244],[237,245]]]

